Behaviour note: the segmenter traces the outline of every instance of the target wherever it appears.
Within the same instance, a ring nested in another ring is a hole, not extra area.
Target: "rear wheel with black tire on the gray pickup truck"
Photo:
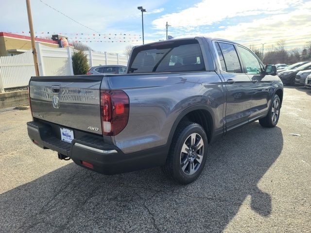
[[[193,139],[191,135],[195,135],[193,146],[189,144]],[[207,146],[207,135],[201,125],[189,121],[179,123],[173,136],[166,164],[162,166],[163,173],[176,183],[188,184],[195,181],[205,166]],[[196,150],[197,148],[199,149]],[[182,150],[188,152],[185,153]]]

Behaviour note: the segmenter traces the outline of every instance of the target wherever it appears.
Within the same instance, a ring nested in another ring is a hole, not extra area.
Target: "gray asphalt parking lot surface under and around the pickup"
[[[0,112],[0,232],[309,233],[311,90],[284,91],[277,127],[228,133],[186,186],[159,168],[105,176],[60,161],[31,143],[29,110]]]

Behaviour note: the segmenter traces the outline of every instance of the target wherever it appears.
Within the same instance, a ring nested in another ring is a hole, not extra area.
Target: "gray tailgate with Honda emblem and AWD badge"
[[[33,117],[102,134],[100,86],[103,75],[32,77]]]

